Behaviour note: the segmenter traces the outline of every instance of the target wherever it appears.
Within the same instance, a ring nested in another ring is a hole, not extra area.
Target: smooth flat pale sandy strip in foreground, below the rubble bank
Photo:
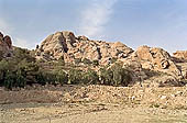
[[[0,123],[186,123],[187,111],[112,104],[6,104]]]

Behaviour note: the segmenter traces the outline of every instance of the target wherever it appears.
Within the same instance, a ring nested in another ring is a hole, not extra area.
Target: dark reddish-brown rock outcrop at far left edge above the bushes
[[[8,57],[11,56],[12,54],[12,41],[11,37],[3,34],[0,32],[0,52],[1,52],[1,57]]]

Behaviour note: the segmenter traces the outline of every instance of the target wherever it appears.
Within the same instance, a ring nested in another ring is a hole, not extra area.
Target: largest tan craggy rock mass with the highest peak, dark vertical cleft
[[[108,64],[111,58],[124,58],[132,52],[120,42],[91,41],[86,36],[76,37],[73,32],[63,31],[50,35],[42,42],[36,48],[36,58],[51,60],[64,57],[65,62],[87,58]]]

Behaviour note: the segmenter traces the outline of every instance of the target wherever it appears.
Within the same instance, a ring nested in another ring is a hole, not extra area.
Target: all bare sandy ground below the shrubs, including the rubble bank
[[[187,123],[186,87],[0,89],[0,123]]]

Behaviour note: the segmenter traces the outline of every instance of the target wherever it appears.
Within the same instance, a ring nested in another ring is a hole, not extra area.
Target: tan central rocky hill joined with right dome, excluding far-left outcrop
[[[47,36],[35,49],[36,59],[56,60],[63,58],[66,63],[88,59],[100,65],[110,65],[113,59],[124,65],[133,66],[134,71],[148,69],[167,72],[176,78],[183,78],[183,72],[176,60],[166,51],[157,47],[140,46],[136,51],[120,42],[92,41],[86,36],[75,36],[73,32],[56,32]],[[176,56],[176,55],[175,55]]]

